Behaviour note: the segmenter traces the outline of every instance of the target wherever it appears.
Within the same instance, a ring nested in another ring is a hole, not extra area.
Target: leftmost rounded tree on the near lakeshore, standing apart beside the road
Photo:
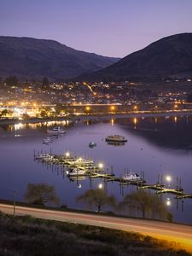
[[[55,194],[55,187],[46,183],[28,183],[24,197],[27,202],[36,205],[44,206],[48,202],[55,205],[59,204],[59,198]]]

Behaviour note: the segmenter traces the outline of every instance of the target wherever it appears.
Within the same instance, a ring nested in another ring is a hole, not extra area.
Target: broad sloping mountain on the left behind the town
[[[67,47],[53,40],[0,37],[0,77],[70,79],[119,61]]]

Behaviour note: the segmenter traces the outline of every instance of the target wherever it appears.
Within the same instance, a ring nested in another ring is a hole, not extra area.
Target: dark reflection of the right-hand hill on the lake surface
[[[166,122],[163,118],[159,118],[158,122],[156,119],[140,119],[139,123],[134,119],[134,126],[131,126],[129,120],[126,123],[125,120],[117,122],[123,129],[144,137],[159,147],[192,150],[192,122],[185,118],[174,117],[172,121],[170,117],[166,117]]]

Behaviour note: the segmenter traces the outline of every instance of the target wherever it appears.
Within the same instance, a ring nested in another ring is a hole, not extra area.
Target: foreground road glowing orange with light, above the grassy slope
[[[14,207],[11,205],[0,204],[0,211],[13,214]],[[190,225],[172,224],[137,218],[108,217],[100,214],[81,212],[61,212],[19,206],[15,207],[15,212],[16,215],[28,214],[35,218],[72,222],[77,224],[90,224],[116,230],[139,232],[143,235],[177,242],[179,243],[179,247],[192,253],[192,226]]]

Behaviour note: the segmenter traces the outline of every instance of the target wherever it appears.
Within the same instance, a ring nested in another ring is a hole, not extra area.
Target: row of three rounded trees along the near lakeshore
[[[48,203],[60,205],[55,187],[46,183],[29,183],[25,200],[28,203],[41,206]],[[113,195],[108,195],[104,189],[88,189],[84,194],[77,196],[76,201],[97,212],[102,212],[104,207],[109,207],[115,213],[124,212],[128,216],[172,221],[172,213],[168,211],[161,197],[148,190],[136,190],[125,195],[122,201],[117,202],[116,198]]]

